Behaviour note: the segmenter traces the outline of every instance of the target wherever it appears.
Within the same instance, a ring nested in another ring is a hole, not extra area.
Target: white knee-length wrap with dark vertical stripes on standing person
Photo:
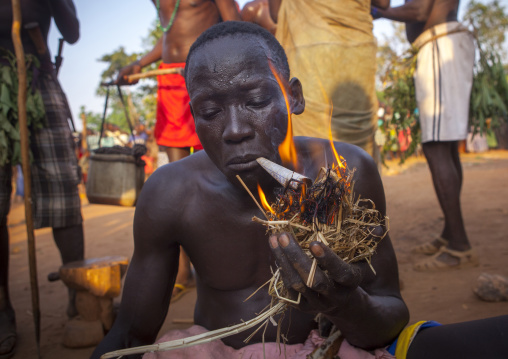
[[[458,22],[423,32],[414,73],[422,143],[467,138],[475,47],[472,34]]]

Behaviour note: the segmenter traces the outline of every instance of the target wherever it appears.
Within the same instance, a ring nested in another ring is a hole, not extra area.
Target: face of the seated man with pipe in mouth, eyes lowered
[[[213,161],[237,183],[266,176],[256,162],[280,162],[287,108],[268,65],[267,46],[257,37],[229,36],[205,44],[188,65],[188,90],[196,132]]]

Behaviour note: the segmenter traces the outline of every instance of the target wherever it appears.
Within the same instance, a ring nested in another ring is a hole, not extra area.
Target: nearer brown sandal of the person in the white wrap
[[[440,258],[442,254],[446,254],[450,257],[457,259],[459,263],[450,264],[446,262],[445,260]],[[455,251],[453,249],[449,249],[443,246],[432,257],[427,258],[421,262],[415,263],[414,270],[418,272],[437,272],[476,266],[478,266],[478,257],[476,256],[476,252],[474,249],[469,249],[467,251]]]

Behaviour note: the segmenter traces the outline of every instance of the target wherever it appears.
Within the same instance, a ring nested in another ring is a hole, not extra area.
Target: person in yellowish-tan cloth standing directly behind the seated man
[[[377,42],[371,0],[269,0],[277,40],[302,81],[306,110],[293,119],[295,135],[357,145],[377,162]],[[372,0],[388,7],[390,0]],[[332,106],[330,106],[330,104]]]

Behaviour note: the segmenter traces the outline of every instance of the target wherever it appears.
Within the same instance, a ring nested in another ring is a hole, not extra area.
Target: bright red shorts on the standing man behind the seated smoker
[[[185,63],[161,63],[159,69],[184,67]],[[203,148],[190,112],[190,98],[185,79],[180,74],[157,76],[157,121],[154,135],[157,144],[167,147]]]

